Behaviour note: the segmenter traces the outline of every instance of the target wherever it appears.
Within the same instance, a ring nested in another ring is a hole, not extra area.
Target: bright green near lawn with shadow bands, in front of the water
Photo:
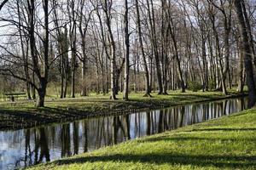
[[[256,109],[32,169],[256,169]]]

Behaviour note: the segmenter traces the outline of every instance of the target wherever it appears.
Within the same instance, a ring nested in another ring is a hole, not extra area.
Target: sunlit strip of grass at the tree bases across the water
[[[213,99],[224,99],[226,97],[237,95],[236,91],[230,90],[230,94],[225,96],[220,92],[191,92],[180,93],[179,91],[169,92],[168,95],[158,95],[152,93],[152,98],[143,97],[143,93],[134,94],[131,93],[129,96],[129,101],[124,101],[122,99],[122,94],[117,95],[117,100],[109,99],[109,94],[99,94],[90,95],[85,97],[77,98],[49,98],[45,99],[45,106],[49,108],[58,109],[79,109],[83,111],[106,111],[106,109],[117,109],[120,111],[126,109],[138,109],[142,107],[166,107],[171,105],[183,105],[189,103],[195,103],[199,101],[208,101]],[[20,110],[27,111],[29,109],[36,110],[36,101],[28,100],[18,100],[16,102],[0,102],[0,110]]]

